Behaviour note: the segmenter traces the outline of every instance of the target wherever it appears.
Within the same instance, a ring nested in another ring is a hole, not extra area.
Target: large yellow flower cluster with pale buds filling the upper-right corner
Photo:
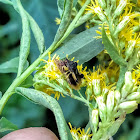
[[[134,48],[140,47],[140,13],[135,11],[136,4],[129,0],[111,1],[111,12],[107,9],[108,5],[104,0],[91,0],[86,10],[96,15],[104,24],[110,41],[127,61],[134,52]],[[113,7],[116,8],[113,9]],[[99,29],[102,28],[99,27]],[[100,31],[97,33],[101,35]]]

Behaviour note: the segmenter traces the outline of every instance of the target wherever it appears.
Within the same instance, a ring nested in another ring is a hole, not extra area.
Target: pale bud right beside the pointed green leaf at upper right
[[[135,44],[136,44],[136,40],[130,40],[128,42],[128,48],[125,51],[125,55],[126,55],[125,60],[127,60],[132,55]]]

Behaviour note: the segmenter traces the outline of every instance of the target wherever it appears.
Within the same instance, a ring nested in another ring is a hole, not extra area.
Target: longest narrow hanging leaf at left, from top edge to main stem
[[[18,76],[20,76],[21,73],[23,72],[24,65],[29,55],[31,36],[30,36],[28,17],[20,3],[20,0],[17,0],[17,6],[18,6],[19,14],[22,18],[22,30],[23,30],[22,37],[21,37],[21,44],[20,44],[19,68],[18,68]]]

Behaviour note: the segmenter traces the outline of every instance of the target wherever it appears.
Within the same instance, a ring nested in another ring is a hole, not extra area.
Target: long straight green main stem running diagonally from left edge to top
[[[32,63],[28,69],[26,71],[23,72],[23,74],[21,74],[20,77],[17,77],[14,82],[11,84],[11,86],[8,88],[8,90],[5,92],[5,94],[2,96],[1,100],[0,100],[0,114],[2,113],[2,110],[5,106],[5,104],[7,103],[8,99],[11,97],[11,95],[14,93],[14,90],[16,87],[18,87],[34,70],[35,68],[39,65],[40,63],[40,59],[43,59],[48,52],[53,52],[55,49],[58,48],[58,46],[64,41],[64,39],[71,33],[71,31],[75,28],[75,24],[76,22],[79,20],[79,18],[81,17],[81,15],[83,14],[86,6],[90,3],[90,0],[87,0],[85,2],[85,4],[83,5],[83,7],[80,9],[80,11],[78,12],[77,16],[74,18],[74,20],[72,21],[72,23],[70,24],[70,26],[68,27],[66,33],[64,34],[64,36],[61,38],[61,40],[58,43],[52,43],[52,45],[39,57],[37,58],[34,63]],[[79,97],[80,98],[80,97]],[[78,100],[81,100],[81,98]]]

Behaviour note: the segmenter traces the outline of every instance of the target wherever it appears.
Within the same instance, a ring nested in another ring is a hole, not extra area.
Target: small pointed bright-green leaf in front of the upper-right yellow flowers
[[[105,49],[110,55],[111,59],[118,65],[127,65],[126,61],[119,55],[118,51],[115,49],[115,46],[108,39],[104,26],[102,27],[102,40]]]

